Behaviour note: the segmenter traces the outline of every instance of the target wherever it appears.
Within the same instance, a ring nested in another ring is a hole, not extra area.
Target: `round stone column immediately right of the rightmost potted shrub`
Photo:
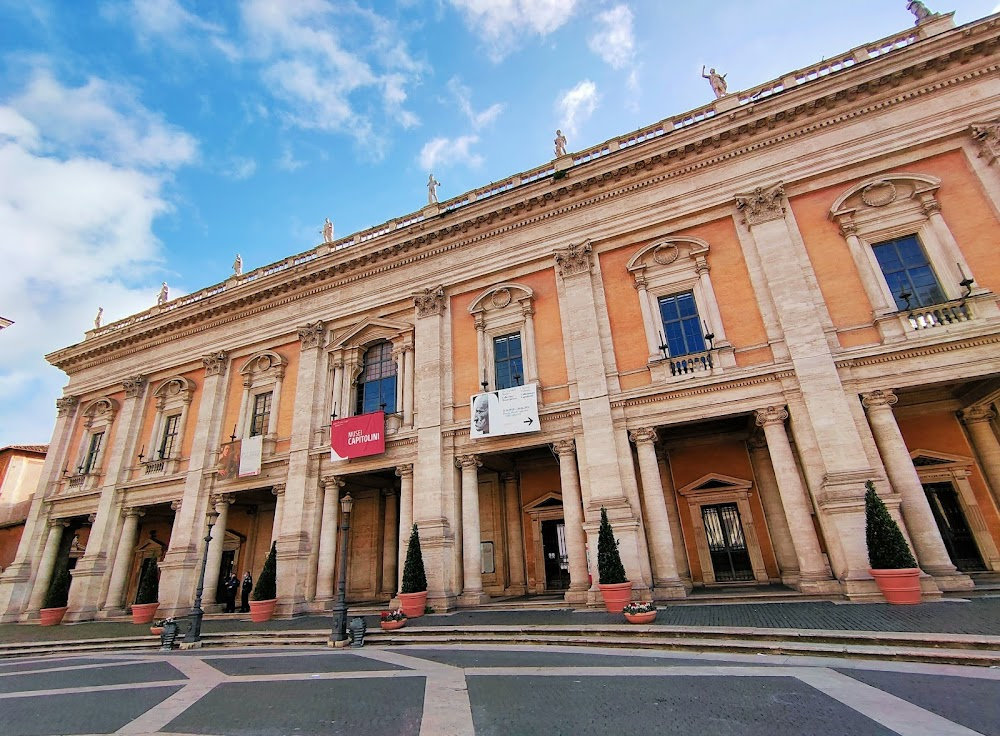
[[[886,475],[893,490],[900,496],[899,508],[918,563],[924,572],[934,576],[942,590],[968,590],[972,587],[972,580],[959,573],[948,557],[920,477],[896,424],[892,407],[898,400],[892,391],[877,390],[862,394],[861,403],[868,412],[868,423]]]

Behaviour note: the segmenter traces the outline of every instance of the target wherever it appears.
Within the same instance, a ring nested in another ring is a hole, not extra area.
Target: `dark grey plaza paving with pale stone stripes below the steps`
[[[1000,670],[549,647],[0,661],[0,734],[1000,735]]]

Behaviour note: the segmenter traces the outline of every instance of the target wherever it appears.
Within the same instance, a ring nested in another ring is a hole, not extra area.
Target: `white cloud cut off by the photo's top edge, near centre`
[[[517,48],[525,35],[547,36],[562,26],[578,0],[449,0],[488,45],[493,61]]]

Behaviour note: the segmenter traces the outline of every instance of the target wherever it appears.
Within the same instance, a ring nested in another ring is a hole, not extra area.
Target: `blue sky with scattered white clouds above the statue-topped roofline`
[[[997,0],[927,3],[965,23]],[[105,323],[913,25],[905,0],[0,0],[0,447]]]

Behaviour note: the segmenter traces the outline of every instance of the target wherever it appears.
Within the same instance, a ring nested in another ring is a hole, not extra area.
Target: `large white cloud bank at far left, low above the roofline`
[[[43,355],[106,321],[152,306],[160,277],[155,218],[197,144],[125,90],[64,86],[38,71],[0,105],[0,446],[45,442],[66,377]]]

